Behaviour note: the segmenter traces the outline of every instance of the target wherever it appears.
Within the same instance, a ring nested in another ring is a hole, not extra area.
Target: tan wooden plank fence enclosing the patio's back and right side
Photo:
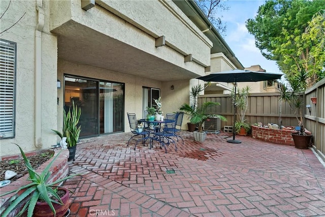
[[[290,110],[289,105],[279,100],[277,93],[251,94],[248,99],[248,109],[245,115],[247,123],[253,124],[262,122],[276,123],[279,125],[280,115],[283,126],[298,126],[298,120]],[[309,109],[304,106],[305,128],[312,132],[314,136],[314,146],[325,155],[325,79],[322,79],[301,96],[305,105],[310,105]],[[317,103],[312,104],[311,98],[317,98]],[[202,95],[199,97],[198,105],[203,102],[218,102],[221,105],[208,110],[211,114],[220,114],[227,118],[226,122],[221,121],[221,129],[224,126],[233,126],[234,105],[229,94]]]

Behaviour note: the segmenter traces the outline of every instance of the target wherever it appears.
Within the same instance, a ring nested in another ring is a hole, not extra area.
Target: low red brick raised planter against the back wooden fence
[[[295,146],[291,133],[297,133],[297,131],[260,128],[257,126],[251,126],[251,129],[252,137],[254,139],[276,144]]]

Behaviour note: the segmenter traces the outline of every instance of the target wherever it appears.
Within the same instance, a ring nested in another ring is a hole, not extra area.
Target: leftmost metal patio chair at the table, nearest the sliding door
[[[135,140],[136,145],[134,146],[134,149],[136,150],[138,142],[142,141],[142,144],[145,145],[146,140],[150,138],[150,132],[146,131],[145,129],[138,128],[138,120],[135,113],[127,113],[127,118],[133,136],[129,138],[126,146],[128,146],[130,140]]]

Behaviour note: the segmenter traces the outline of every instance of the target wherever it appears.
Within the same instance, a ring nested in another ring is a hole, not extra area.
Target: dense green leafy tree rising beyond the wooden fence
[[[324,77],[323,0],[267,0],[246,27],[261,53],[276,60],[287,77],[302,70],[309,78]],[[310,82],[313,82],[312,80]]]

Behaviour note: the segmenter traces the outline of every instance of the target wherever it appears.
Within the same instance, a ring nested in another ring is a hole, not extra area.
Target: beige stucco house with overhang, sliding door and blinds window
[[[190,79],[243,68],[193,1],[17,0],[0,28],[1,156],[56,144],[72,101],[81,138],[129,132],[126,112],[141,118],[159,96],[177,111]]]

